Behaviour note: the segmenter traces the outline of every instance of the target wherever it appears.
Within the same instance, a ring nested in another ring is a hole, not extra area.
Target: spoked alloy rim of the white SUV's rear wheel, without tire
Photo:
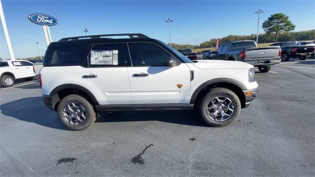
[[[85,109],[77,103],[68,103],[63,107],[63,119],[71,125],[82,124],[86,120]]]

